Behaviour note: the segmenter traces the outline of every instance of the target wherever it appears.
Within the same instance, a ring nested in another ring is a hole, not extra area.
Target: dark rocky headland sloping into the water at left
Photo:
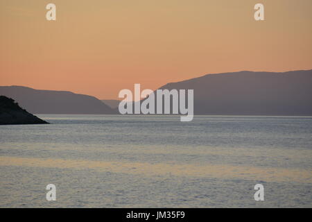
[[[0,96],[0,125],[8,124],[46,124],[48,122],[35,117],[19,107],[13,99]]]

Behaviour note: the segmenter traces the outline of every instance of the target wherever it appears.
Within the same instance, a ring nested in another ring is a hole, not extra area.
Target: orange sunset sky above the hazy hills
[[[311,0],[0,0],[0,85],[118,99],[135,83],[312,69],[311,9]]]

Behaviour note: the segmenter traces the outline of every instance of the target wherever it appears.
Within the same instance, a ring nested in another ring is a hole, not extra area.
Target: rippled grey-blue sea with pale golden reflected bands
[[[0,207],[312,207],[312,117],[37,116],[0,126]]]

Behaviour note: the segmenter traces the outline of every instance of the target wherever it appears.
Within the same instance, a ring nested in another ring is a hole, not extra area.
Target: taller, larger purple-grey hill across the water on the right
[[[207,74],[161,89],[194,89],[194,113],[312,115],[312,70]]]

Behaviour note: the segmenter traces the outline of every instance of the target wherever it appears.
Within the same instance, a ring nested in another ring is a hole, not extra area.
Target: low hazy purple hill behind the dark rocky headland
[[[21,107],[35,114],[114,114],[94,96],[73,92],[0,86],[0,95],[15,99]]]

